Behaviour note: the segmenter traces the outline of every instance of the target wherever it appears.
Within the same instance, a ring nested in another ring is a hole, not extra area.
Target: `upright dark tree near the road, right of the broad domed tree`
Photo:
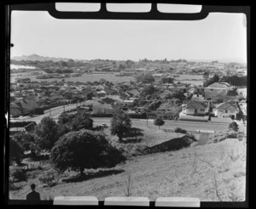
[[[119,142],[122,142],[124,134],[131,130],[131,119],[123,111],[119,110],[113,114],[110,123],[111,134],[117,135]]]

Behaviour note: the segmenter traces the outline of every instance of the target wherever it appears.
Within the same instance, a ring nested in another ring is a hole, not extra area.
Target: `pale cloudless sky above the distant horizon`
[[[48,12],[13,11],[11,57],[38,54],[72,59],[247,58],[244,14],[205,20],[57,20]]]

